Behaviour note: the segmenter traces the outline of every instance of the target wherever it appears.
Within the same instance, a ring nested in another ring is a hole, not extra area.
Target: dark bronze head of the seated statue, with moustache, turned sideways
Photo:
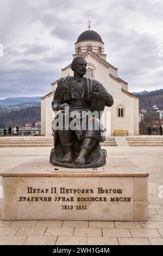
[[[79,75],[85,75],[87,62],[82,56],[73,59],[71,69]]]

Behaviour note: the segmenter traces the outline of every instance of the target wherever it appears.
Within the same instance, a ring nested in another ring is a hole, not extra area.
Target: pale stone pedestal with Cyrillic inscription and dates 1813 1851
[[[123,157],[93,169],[40,157],[1,175],[2,220],[148,221],[148,174]]]

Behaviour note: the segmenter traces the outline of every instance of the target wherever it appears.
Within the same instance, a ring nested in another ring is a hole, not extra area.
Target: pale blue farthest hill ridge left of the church
[[[0,106],[7,107],[7,106],[15,106],[22,103],[29,103],[29,102],[40,102],[39,97],[9,97],[4,100],[0,100]]]

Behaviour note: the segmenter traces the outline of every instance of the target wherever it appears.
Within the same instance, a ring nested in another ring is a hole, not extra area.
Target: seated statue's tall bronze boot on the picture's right
[[[82,145],[80,147],[79,155],[75,163],[78,165],[85,165],[86,156],[90,153],[90,151],[95,146],[95,144],[96,144],[96,139],[84,138],[82,141]]]

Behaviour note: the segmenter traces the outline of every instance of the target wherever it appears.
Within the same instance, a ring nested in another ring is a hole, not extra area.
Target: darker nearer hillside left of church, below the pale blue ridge
[[[20,111],[14,110],[10,113],[0,113],[0,128],[18,126],[24,127],[26,123],[35,123],[41,120],[40,107],[28,107]]]

